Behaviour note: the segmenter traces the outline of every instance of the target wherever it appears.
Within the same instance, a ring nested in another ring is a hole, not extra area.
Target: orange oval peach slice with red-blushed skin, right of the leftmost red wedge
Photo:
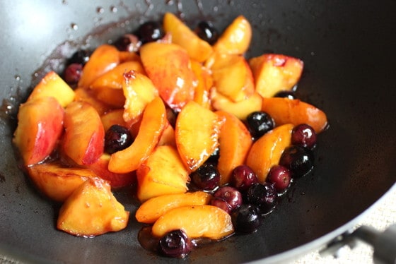
[[[91,104],[71,102],[65,110],[64,128],[63,150],[76,164],[92,164],[103,154],[105,129]]]

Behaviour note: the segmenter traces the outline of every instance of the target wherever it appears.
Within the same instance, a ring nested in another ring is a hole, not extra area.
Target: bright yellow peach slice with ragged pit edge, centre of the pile
[[[175,138],[183,163],[193,172],[219,146],[224,120],[197,102],[190,101],[176,119]]]

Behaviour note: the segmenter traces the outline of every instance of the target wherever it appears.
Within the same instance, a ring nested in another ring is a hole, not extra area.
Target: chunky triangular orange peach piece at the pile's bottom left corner
[[[110,184],[88,179],[66,199],[57,228],[74,236],[92,237],[127,227],[129,212],[113,196]]]

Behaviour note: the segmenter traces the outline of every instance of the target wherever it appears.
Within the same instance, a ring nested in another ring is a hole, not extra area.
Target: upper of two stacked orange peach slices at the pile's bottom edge
[[[185,205],[207,205],[211,194],[204,191],[194,193],[165,194],[146,200],[136,210],[136,220],[141,223],[153,224],[161,215],[173,208]]]

